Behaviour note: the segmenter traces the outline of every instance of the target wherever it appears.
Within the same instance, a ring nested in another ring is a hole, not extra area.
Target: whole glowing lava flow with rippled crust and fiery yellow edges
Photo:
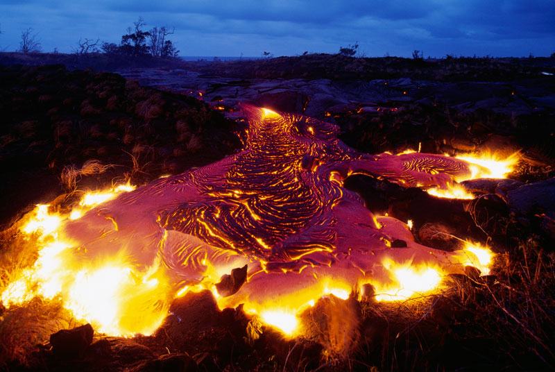
[[[321,121],[246,106],[244,149],[133,190],[89,194],[71,214],[46,205],[22,222],[37,260],[3,289],[4,305],[60,298],[74,316],[111,335],[151,334],[174,298],[210,289],[220,307],[241,303],[287,335],[322,296],[347,298],[370,283],[377,301],[434,291],[447,273],[488,272],[477,244],[445,252],[414,242],[397,219],[377,217],[343,188],[350,174],[405,186],[449,189],[491,174],[488,164],[443,155],[365,155]],[[396,239],[407,243],[391,248]],[[216,284],[248,265],[228,296]]]

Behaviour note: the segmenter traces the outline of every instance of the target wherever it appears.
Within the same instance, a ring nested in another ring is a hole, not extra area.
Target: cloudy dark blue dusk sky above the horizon
[[[357,40],[366,56],[555,51],[555,0],[0,0],[0,50],[17,49],[28,27],[44,51],[119,42],[139,16],[175,26],[181,56],[336,53]]]

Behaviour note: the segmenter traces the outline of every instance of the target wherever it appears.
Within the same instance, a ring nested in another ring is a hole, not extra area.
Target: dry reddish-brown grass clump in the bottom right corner
[[[555,366],[555,253],[535,239],[500,257],[497,280],[459,289],[459,298],[476,301],[475,314],[483,331],[495,338],[506,362],[526,368]],[[479,301],[481,300],[481,301]],[[464,304],[463,301],[461,303]]]

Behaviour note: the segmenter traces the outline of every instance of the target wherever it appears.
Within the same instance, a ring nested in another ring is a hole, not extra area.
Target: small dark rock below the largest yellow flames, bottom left
[[[53,352],[64,357],[78,357],[92,343],[94,330],[90,324],[71,330],[59,330],[50,335]]]

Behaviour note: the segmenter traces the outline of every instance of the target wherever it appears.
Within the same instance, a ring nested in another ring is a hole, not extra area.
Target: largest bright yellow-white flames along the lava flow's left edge
[[[165,296],[165,277],[158,274],[160,263],[138,269],[117,257],[107,262],[75,262],[67,251],[74,244],[62,236],[66,221],[82,217],[96,205],[129,192],[134,186],[117,185],[110,189],[87,192],[78,208],[67,214],[51,212],[49,205],[37,205],[24,217],[21,230],[35,235],[37,260],[31,267],[15,273],[3,288],[0,298],[6,307],[31,301],[35,296],[45,299],[59,297],[76,319],[89,321],[100,332],[110,335],[145,335],[162,322],[164,309],[142,308],[156,296]],[[87,265],[87,266],[85,266]]]

